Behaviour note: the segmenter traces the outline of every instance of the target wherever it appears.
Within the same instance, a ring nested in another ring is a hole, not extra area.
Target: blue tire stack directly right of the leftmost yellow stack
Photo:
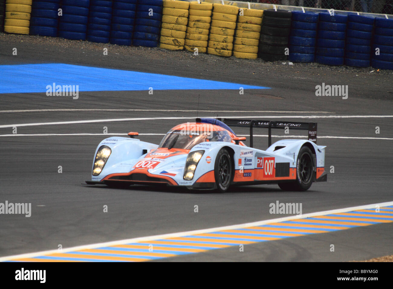
[[[30,35],[57,37],[60,0],[33,1],[31,6]]]

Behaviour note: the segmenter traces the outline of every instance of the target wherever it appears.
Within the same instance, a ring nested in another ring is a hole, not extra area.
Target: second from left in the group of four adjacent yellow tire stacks
[[[189,3],[190,9],[184,48],[190,52],[195,52],[195,48],[198,48],[198,53],[206,53],[213,4],[208,2],[198,3],[197,1]]]

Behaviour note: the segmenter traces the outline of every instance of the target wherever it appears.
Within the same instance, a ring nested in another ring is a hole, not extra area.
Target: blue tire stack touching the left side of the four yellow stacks
[[[149,9],[152,9],[152,13],[149,13]],[[161,19],[162,0],[138,0],[133,45],[157,47]]]

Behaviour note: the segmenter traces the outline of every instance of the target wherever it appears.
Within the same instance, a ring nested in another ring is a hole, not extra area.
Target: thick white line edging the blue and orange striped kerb
[[[343,213],[343,212],[351,212],[351,211],[356,211],[356,210],[371,209],[371,208],[376,208],[376,206],[379,206],[380,208],[386,207],[386,206],[393,206],[393,202],[368,204],[368,205],[363,205],[363,206],[349,207],[349,208],[329,210],[329,211],[323,211],[323,212],[315,212],[315,213],[304,214],[304,215],[295,215],[295,216],[290,216],[290,217],[257,221],[257,222],[253,222],[253,223],[244,223],[244,224],[239,224],[239,225],[222,226],[222,227],[217,227],[217,228],[193,230],[193,231],[187,231],[187,232],[178,232],[178,233],[147,236],[147,237],[137,237],[137,238],[132,238],[132,239],[111,241],[111,242],[105,242],[105,243],[95,243],[95,244],[90,244],[90,245],[82,245],[82,246],[66,248],[66,249],[62,249],[61,251],[54,249],[54,250],[47,250],[47,251],[41,251],[41,252],[6,256],[6,257],[1,257],[0,262],[15,260],[15,259],[22,259],[22,258],[33,258],[33,257],[55,254],[55,253],[72,252],[72,251],[86,250],[86,249],[95,249],[95,248],[99,248],[99,247],[108,247],[108,246],[123,245],[123,244],[129,244],[129,243],[137,243],[137,242],[141,243],[141,242],[148,242],[148,241],[153,241],[153,240],[184,237],[184,236],[196,235],[196,234],[206,234],[206,233],[223,231],[223,230],[235,230],[235,229],[239,229],[239,228],[266,225],[268,223],[279,223],[279,222],[284,222],[284,221],[289,221],[289,220],[305,219],[305,218],[316,217],[316,216],[321,216],[321,215],[330,215],[330,214],[338,214],[338,213]]]

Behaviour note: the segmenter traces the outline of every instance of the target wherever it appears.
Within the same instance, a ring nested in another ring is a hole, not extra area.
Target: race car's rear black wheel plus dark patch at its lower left
[[[296,161],[296,180],[292,182],[279,183],[281,190],[285,191],[307,191],[312,185],[314,178],[314,157],[309,147],[301,147]]]

